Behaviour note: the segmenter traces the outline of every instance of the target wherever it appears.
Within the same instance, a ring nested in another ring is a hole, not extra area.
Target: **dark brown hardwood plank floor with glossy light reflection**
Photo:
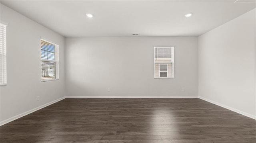
[[[256,120],[198,98],[64,99],[0,127],[0,143],[256,143]]]

